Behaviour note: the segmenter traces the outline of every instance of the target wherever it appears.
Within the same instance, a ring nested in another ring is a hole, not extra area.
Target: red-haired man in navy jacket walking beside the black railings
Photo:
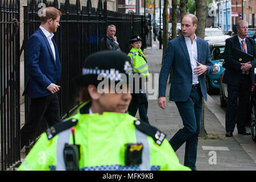
[[[54,7],[43,10],[41,25],[31,35],[27,46],[27,82],[23,95],[31,98],[28,122],[20,131],[20,148],[35,133],[43,117],[49,126],[60,122],[57,92],[60,89],[60,59],[53,32],[60,26],[61,12]]]

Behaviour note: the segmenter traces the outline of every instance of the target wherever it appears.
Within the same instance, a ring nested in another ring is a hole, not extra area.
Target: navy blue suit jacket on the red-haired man
[[[27,46],[27,82],[23,95],[31,98],[49,96],[47,87],[53,83],[60,85],[60,58],[56,43],[54,60],[49,42],[39,28],[31,35]]]

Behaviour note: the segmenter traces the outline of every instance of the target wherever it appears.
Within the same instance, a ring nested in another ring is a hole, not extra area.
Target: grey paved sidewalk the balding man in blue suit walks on
[[[167,134],[170,140],[183,127],[179,111],[174,102],[169,101],[170,84],[167,85],[167,107],[160,109],[157,103],[158,75],[162,63],[163,49],[159,42],[152,41],[145,56],[148,62],[151,80],[154,81],[154,93],[148,94],[148,118],[152,126]],[[155,74],[158,73],[158,74]],[[153,96],[154,95],[154,96]],[[207,137],[200,137],[197,147],[196,168],[198,171],[252,171],[256,170],[256,143],[250,136],[243,136],[234,131],[232,138],[225,137],[225,110],[216,100],[208,95],[205,102],[205,130]],[[138,113],[137,113],[138,117]],[[24,104],[21,105],[21,126],[24,123]],[[249,126],[247,130],[250,131]],[[185,144],[176,151],[180,163],[184,163]],[[22,161],[24,149],[21,151]]]

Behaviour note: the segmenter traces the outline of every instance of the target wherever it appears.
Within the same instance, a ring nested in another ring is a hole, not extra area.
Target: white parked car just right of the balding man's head
[[[221,28],[205,28],[204,40],[207,40],[209,44],[214,44],[218,42],[225,42],[226,39],[231,36],[225,35]]]

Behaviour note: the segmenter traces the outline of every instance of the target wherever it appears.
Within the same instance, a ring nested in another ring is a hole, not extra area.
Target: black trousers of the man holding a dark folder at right
[[[228,85],[228,104],[226,107],[225,123],[227,132],[233,133],[236,124],[238,131],[245,131],[251,86],[252,82],[250,75],[245,74],[242,74],[237,85]]]

